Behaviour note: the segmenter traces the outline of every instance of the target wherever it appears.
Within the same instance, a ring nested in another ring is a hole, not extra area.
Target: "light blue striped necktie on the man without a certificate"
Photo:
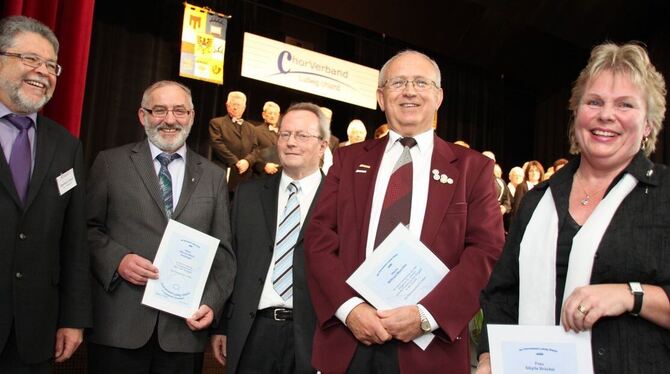
[[[282,299],[293,296],[293,248],[300,233],[300,202],[298,182],[288,185],[289,197],[277,228],[276,260],[272,271],[272,286]]]

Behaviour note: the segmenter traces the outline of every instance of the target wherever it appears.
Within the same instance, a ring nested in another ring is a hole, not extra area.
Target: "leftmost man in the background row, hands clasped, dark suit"
[[[242,119],[246,108],[247,96],[240,91],[232,91],[226,101],[228,114],[209,121],[212,161],[227,170],[231,192],[235,192],[241,181],[253,176],[251,166],[257,157],[255,126]]]

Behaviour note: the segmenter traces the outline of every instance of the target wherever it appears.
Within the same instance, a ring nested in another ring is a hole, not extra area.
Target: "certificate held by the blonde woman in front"
[[[591,332],[562,326],[488,325],[493,374],[592,374]]]

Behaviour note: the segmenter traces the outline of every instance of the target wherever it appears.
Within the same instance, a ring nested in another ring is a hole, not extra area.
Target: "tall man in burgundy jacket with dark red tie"
[[[433,60],[397,54],[381,69],[377,90],[389,135],[335,152],[305,235],[318,319],[312,363],[323,373],[470,373],[468,321],[502,250],[502,217],[493,161],[433,133],[442,95]],[[387,185],[403,193],[388,193]],[[376,310],[345,280],[401,212],[396,222],[450,272],[417,305]],[[436,337],[423,351],[412,340],[427,332]]]

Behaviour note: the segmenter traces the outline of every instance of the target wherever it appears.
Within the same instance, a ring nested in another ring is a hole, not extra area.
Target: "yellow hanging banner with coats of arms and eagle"
[[[184,3],[179,75],[223,84],[227,18],[207,8]]]

